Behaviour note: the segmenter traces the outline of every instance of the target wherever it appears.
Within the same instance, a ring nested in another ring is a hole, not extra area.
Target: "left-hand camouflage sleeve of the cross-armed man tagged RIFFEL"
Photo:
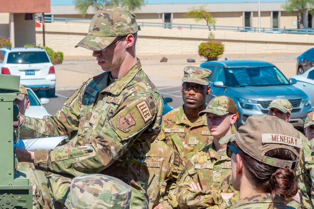
[[[193,206],[207,208],[223,203],[221,190],[192,190],[190,187],[192,181],[197,184],[199,180],[193,159],[190,159],[177,180],[178,193],[176,198],[179,208],[191,208]]]

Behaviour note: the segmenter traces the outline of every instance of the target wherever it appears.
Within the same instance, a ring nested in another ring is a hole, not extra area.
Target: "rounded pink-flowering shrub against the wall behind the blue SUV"
[[[218,60],[224,53],[225,45],[219,41],[203,42],[198,46],[198,54],[205,57],[207,61]]]

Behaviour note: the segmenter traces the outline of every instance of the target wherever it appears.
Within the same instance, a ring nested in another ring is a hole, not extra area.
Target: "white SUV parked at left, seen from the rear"
[[[55,96],[55,68],[41,47],[0,48],[0,71],[20,76],[21,84],[34,91],[46,91],[47,97]]]

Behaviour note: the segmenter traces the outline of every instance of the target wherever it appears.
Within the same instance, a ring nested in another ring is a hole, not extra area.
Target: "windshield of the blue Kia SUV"
[[[231,87],[288,85],[289,81],[276,67],[228,68]]]

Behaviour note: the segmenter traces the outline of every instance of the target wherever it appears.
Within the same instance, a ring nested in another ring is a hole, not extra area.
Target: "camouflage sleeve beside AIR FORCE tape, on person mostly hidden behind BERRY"
[[[173,151],[171,156],[170,166],[171,173],[166,179],[166,190],[164,200],[161,204],[164,208],[176,208],[176,181],[182,173],[186,164],[186,160],[180,156],[178,152]]]

